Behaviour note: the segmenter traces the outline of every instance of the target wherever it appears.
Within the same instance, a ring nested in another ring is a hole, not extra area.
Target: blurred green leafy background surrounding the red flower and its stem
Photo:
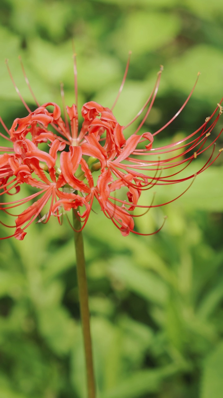
[[[71,106],[72,37],[79,110],[88,100],[112,105],[133,51],[114,109],[121,125],[142,107],[160,64],[158,97],[144,126],[151,132],[178,111],[201,71],[185,110],[154,146],[196,130],[221,100],[222,0],[1,0],[0,114],[8,127],[27,111],[4,59],[32,109],[18,55],[40,103],[62,105],[63,82]],[[220,119],[213,134],[222,127]],[[222,397],[222,171],[220,157],[179,200],[136,220],[146,233],[168,215],[154,236],[121,236],[95,205],[84,238],[99,398]],[[185,187],[157,189],[156,203]],[[152,193],[146,195],[150,203]],[[24,241],[0,242],[1,398],[85,398],[77,293],[66,221],[34,224]]]

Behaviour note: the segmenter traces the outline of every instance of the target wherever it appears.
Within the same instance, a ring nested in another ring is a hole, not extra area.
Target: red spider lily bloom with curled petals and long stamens
[[[77,103],[76,63],[74,65]],[[129,60],[115,103],[123,88],[128,66]],[[186,178],[180,177],[181,171],[195,158],[210,146],[214,148],[214,143],[221,132],[211,142],[209,142],[208,137],[222,113],[220,104],[203,125],[185,139],[158,148],[152,147],[154,136],[165,129],[179,115],[192,95],[196,83],[185,103],[168,123],[154,134],[149,132],[139,133],[156,98],[161,71],[162,68],[158,72],[156,84],[148,100],[136,117],[125,127],[119,125],[111,109],[90,101],[82,107],[81,113],[84,121],[79,131],[77,106],[75,104],[66,107],[69,123],[66,116],[65,122],[62,120],[60,107],[56,103],[49,102],[39,106],[36,101],[38,107],[31,112],[19,94],[29,115],[15,119],[10,130],[0,119],[9,136],[2,133],[0,135],[12,144],[12,147],[0,147],[0,152],[3,152],[0,155],[0,188],[2,189],[0,195],[3,193],[12,195],[13,189],[15,189],[14,195],[17,194],[20,185],[23,183],[31,185],[38,191],[24,199],[0,203],[0,210],[8,213],[8,210],[34,200],[34,203],[15,220],[15,233],[11,236],[20,240],[23,239],[26,234],[25,229],[37,217],[40,217],[40,221],[47,222],[50,216],[54,215],[58,217],[60,222],[62,209],[70,211],[72,208],[77,209],[79,206],[85,206],[83,214],[78,213],[79,217],[83,219],[82,230],[92,209],[94,197],[98,200],[104,214],[112,220],[124,236],[128,235],[129,232],[140,234],[133,230],[134,217],[138,217],[133,214],[134,210],[137,207],[148,210],[151,207],[166,204],[138,205],[142,191],[150,189],[154,185],[169,185],[189,179],[193,181],[197,174],[206,170],[216,160],[219,154],[213,158],[212,151],[210,158],[200,170]],[[10,70],[9,73],[12,78]],[[26,75],[25,78],[28,82]],[[15,86],[14,81],[13,84]],[[17,89],[16,86],[15,88]],[[54,107],[53,111],[48,110],[49,106]],[[124,130],[147,107],[144,118],[135,133],[125,139]],[[218,109],[220,109],[219,112],[217,112]],[[27,136],[30,135],[31,139],[28,139]],[[48,143],[50,148],[48,152],[38,148],[38,145],[43,142]],[[142,148],[142,145],[144,145],[144,148]],[[60,154],[59,167],[56,165],[56,162],[59,161],[58,154]],[[152,155],[158,155],[158,158],[154,159]],[[94,184],[92,176],[94,170],[100,170],[96,184]],[[128,189],[127,200],[117,199],[115,194],[112,194],[122,187]],[[39,195],[41,195],[40,198],[36,200]],[[172,201],[175,199],[177,198]],[[44,217],[41,217],[40,212],[48,202],[50,203],[49,210]]]

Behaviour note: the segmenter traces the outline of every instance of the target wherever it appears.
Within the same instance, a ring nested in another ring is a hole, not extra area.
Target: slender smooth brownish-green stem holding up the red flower
[[[77,214],[77,210],[73,209],[73,227],[76,230],[81,229],[81,221]],[[88,398],[95,398],[94,383],[94,367],[92,357],[92,344],[90,336],[90,313],[88,307],[88,288],[85,272],[85,256],[82,232],[74,231],[74,242],[77,258],[77,282],[79,288],[79,300],[81,310],[81,322],[84,337],[85,361],[87,371]]]

